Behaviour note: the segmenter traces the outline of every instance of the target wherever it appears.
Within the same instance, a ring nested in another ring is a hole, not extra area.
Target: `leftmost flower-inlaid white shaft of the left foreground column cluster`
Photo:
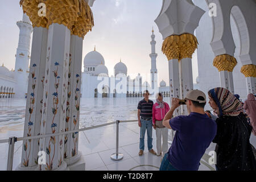
[[[44,88],[44,72],[46,68],[48,30],[35,27],[32,39],[30,73],[28,78],[26,117],[24,137],[40,134],[42,118],[42,100]],[[22,161],[18,170],[36,168],[38,164],[39,139],[24,140],[22,145]]]

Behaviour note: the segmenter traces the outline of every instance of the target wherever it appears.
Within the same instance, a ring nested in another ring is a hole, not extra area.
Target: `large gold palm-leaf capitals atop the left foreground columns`
[[[46,5],[45,17],[38,15],[39,3]],[[66,26],[71,35],[84,38],[94,26],[92,10],[84,0],[21,0],[20,6],[33,27],[49,28],[52,23],[59,23]]]

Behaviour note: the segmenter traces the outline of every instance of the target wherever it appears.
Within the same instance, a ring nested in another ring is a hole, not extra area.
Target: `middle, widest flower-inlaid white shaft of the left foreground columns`
[[[53,134],[65,131],[67,109],[68,68],[71,32],[63,24],[49,26],[43,114],[40,133]],[[64,135],[40,139],[40,151],[46,152],[46,164],[39,170],[64,170]]]

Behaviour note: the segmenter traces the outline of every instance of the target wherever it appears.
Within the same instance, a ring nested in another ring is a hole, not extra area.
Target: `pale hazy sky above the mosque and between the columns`
[[[9,69],[15,67],[15,53],[18,47],[19,28],[16,22],[22,20],[20,0],[0,0],[0,64]],[[156,35],[156,67],[159,82],[167,82],[168,61],[161,51],[162,35],[154,20],[162,7],[162,0],[96,0],[92,7],[94,27],[84,39],[83,57],[86,53],[100,52],[109,69],[109,76],[114,75],[114,65],[122,59],[128,74],[134,78],[138,73],[148,74],[151,68],[151,30]],[[198,76],[197,60],[192,60],[193,82]],[[82,64],[82,71],[84,64]]]

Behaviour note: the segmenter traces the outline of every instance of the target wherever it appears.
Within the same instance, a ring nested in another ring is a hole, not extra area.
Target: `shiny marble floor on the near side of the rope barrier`
[[[158,171],[161,156],[152,155],[147,151],[147,135],[145,135],[144,155],[138,156],[139,152],[139,127],[137,122],[119,124],[119,148],[123,154],[123,159],[114,161],[110,155],[115,153],[115,125],[109,125],[82,131],[79,135],[79,152],[81,152],[80,162],[85,161],[85,170],[100,171]],[[170,130],[171,131],[171,130]],[[21,133],[20,133],[21,134]],[[18,136],[20,137],[20,136]],[[169,138],[172,138],[170,132]],[[171,142],[170,142],[171,143]],[[168,144],[169,147],[171,144]],[[251,136],[251,143],[256,146],[256,137]],[[205,151],[201,159],[199,171],[214,171],[214,165],[209,165],[209,151],[214,150],[212,143]],[[8,144],[0,144],[0,170],[6,170]],[[155,130],[153,130],[153,148],[156,151]],[[15,143],[14,163],[15,169],[21,160],[22,142]]]

